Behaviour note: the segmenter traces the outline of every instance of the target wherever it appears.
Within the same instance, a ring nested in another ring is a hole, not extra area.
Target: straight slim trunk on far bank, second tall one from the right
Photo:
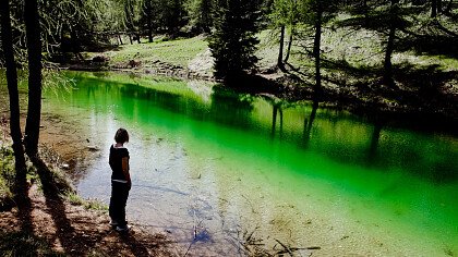
[[[322,20],[323,9],[321,3],[316,7],[315,37],[313,40],[313,57],[315,59],[315,100],[320,100],[322,95],[322,74],[321,74],[321,41],[322,41]]]

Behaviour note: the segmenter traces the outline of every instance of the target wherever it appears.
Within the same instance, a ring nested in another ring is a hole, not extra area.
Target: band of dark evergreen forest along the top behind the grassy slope
[[[19,68],[25,68],[25,1],[10,0],[10,3],[15,61]],[[288,42],[279,46],[277,66],[287,71],[290,66],[284,64],[290,64],[294,70],[306,70],[314,61],[317,87],[322,77],[320,69],[324,69],[325,79],[327,59],[334,51],[322,46],[322,41],[325,44],[328,32],[334,29],[348,30],[349,37],[342,40],[353,44],[354,49],[360,46],[352,42],[351,30],[371,30],[376,36],[373,42],[378,45],[377,51],[384,56],[371,65],[379,69],[377,75],[384,72],[389,84],[393,84],[391,76],[396,79],[399,68],[398,61],[391,63],[395,54],[412,51],[454,59],[458,56],[456,1],[39,0],[37,8],[43,28],[41,52],[45,61],[52,62],[73,62],[73,57],[82,61],[85,57],[81,52],[117,47],[123,44],[124,36],[132,44],[141,44],[146,36],[153,41],[154,35],[165,35],[167,40],[204,33],[209,35],[215,75],[222,79],[237,78],[256,68],[255,35],[265,28],[280,35],[273,40],[275,44]],[[292,60],[288,62],[291,49]],[[298,58],[300,63],[294,63]],[[5,65],[1,49],[0,65]]]

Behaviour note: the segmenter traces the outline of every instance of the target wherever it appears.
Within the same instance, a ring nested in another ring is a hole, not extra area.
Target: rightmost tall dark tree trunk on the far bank
[[[395,47],[395,36],[396,36],[396,22],[395,22],[395,4],[397,0],[391,0],[391,8],[389,11],[390,24],[389,24],[389,33],[388,33],[388,41],[386,44],[385,50],[385,62],[384,62],[384,83],[388,87],[394,87],[395,82],[393,79],[393,63],[391,63],[391,56]]]

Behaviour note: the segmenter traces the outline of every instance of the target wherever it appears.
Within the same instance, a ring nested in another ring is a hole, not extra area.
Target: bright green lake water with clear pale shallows
[[[69,76],[43,111],[101,149],[77,171],[80,194],[109,201],[108,149],[128,128],[128,219],[181,254],[238,256],[254,232],[266,249],[320,246],[313,256],[458,255],[455,136],[202,82]]]

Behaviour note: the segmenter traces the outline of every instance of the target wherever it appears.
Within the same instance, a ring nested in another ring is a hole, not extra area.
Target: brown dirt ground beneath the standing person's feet
[[[46,198],[36,184],[28,198],[29,205],[0,212],[3,233],[19,232],[28,220],[36,236],[69,256],[173,256],[171,242],[164,234],[149,234],[136,227],[120,234],[111,230],[103,211]]]

